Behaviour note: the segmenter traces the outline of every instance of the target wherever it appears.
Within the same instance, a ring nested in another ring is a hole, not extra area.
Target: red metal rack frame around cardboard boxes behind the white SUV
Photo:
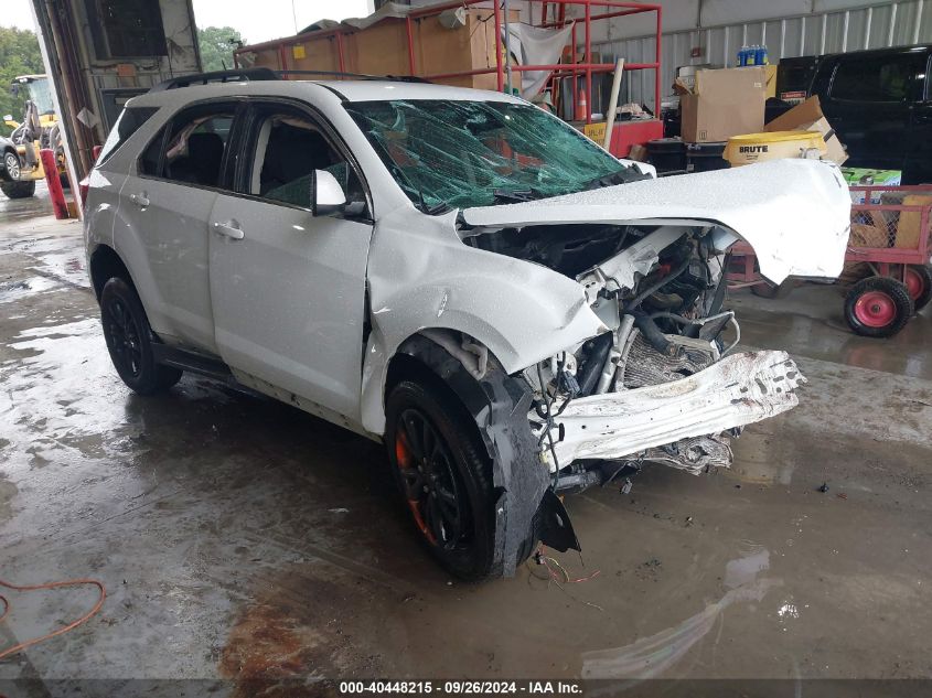
[[[534,4],[536,0],[526,0],[529,4],[531,10],[531,19],[533,22],[534,19]],[[656,51],[654,54],[653,63],[626,63],[624,65],[625,72],[631,71],[654,71],[654,112],[655,115],[660,115],[660,105],[661,105],[661,28],[663,22],[663,8],[660,4],[642,4],[640,2],[625,2],[623,0],[539,0],[540,1],[540,22],[537,26],[544,28],[554,28],[554,26],[565,26],[566,23],[570,20],[566,17],[566,9],[568,7],[581,7],[583,9],[583,18],[581,20],[583,26],[583,42],[582,42],[582,55],[583,60],[582,63],[558,63],[551,65],[512,65],[512,72],[519,73],[526,71],[551,71],[554,75],[553,78],[559,77],[572,77],[571,80],[571,98],[575,105],[577,104],[577,80],[578,78],[582,77],[585,79],[585,89],[586,89],[586,122],[592,122],[592,76],[600,74],[600,73],[612,73],[615,69],[614,63],[593,63],[592,62],[592,22],[596,21],[603,21],[610,20],[612,18],[618,17],[629,17],[632,14],[640,14],[644,12],[654,12],[656,14],[656,34],[655,34],[655,46]],[[515,0],[515,4],[517,6],[521,0]],[[454,2],[447,2],[443,4],[436,4],[427,8],[421,8],[418,10],[414,10],[405,18],[405,33],[407,36],[407,49],[408,49],[408,72],[410,75],[415,75],[418,77],[424,77],[426,79],[448,79],[452,77],[469,77],[472,75],[488,75],[488,74],[495,74],[495,84],[499,92],[504,90],[505,88],[505,65],[502,61],[502,25],[504,23],[504,17],[501,6],[501,0],[495,0],[493,2],[493,19],[495,22],[495,66],[488,67],[488,68],[476,68],[473,71],[462,71],[458,73],[424,73],[419,72],[418,66],[415,61],[415,40],[414,40],[414,22],[421,20],[427,17],[435,17],[444,12],[450,9],[456,8],[468,8],[470,6],[480,4],[480,3],[488,3],[488,0],[457,0]],[[557,10],[557,17],[554,20],[547,20],[547,8],[554,7]],[[597,14],[592,13],[592,8],[602,8],[606,11],[599,12]],[[577,49],[577,41],[576,41],[576,26],[579,21],[576,21],[572,25],[572,34],[571,34],[571,57],[575,60],[576,57],[576,49]],[[307,39],[322,39],[325,36],[334,36],[336,41],[336,50],[340,63],[340,71],[344,71],[344,58],[343,58],[343,37],[346,34],[355,33],[355,28],[350,26],[339,26],[335,29],[321,31],[321,32],[313,32],[311,34],[307,34]],[[255,44],[251,46],[244,46],[238,49],[233,54],[234,64],[236,67],[239,67],[239,54],[245,52],[257,51],[261,49],[270,49],[276,47],[278,49],[278,58],[279,63],[281,64],[281,69],[288,69],[288,52],[286,46],[296,43],[298,40],[297,36],[288,36],[286,39],[277,39],[274,41],[267,41],[260,44]]]

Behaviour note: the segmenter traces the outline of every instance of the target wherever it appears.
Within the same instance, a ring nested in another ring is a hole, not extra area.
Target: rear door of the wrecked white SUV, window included
[[[224,186],[239,103],[208,101],[174,115],[149,142],[121,192],[146,269],[142,297],[163,339],[215,353],[207,273],[207,222]],[[118,250],[119,251],[119,250]]]

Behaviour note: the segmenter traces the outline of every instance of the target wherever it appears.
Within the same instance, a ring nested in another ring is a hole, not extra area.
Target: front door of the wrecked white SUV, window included
[[[221,193],[211,215],[221,356],[279,397],[283,391],[311,411],[357,422],[373,229],[362,180],[309,111],[254,104],[243,133],[237,193]],[[314,170],[336,175],[354,202],[346,212],[312,215]]]

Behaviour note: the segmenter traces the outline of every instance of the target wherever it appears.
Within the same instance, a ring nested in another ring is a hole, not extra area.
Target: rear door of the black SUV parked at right
[[[822,109],[848,149],[846,164],[903,169],[924,67],[924,53],[911,51],[836,56]]]

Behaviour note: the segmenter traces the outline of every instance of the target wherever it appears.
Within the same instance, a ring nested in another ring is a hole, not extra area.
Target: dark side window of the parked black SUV
[[[849,101],[903,101],[914,73],[914,55],[843,58],[831,95]]]

